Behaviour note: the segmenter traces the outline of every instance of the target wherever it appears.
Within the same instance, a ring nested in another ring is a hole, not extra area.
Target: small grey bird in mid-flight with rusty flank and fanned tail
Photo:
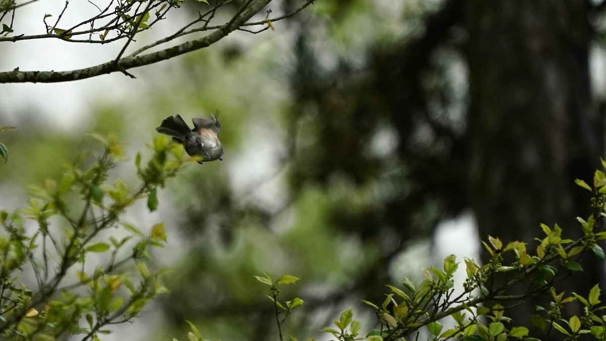
[[[191,121],[194,129],[190,129],[181,116],[168,116],[156,131],[173,137],[173,140],[183,145],[190,156],[202,157],[202,160],[198,161],[199,164],[202,164],[202,161],[217,159],[222,161],[223,146],[217,137],[221,130],[219,120],[213,115],[208,118],[194,118]]]

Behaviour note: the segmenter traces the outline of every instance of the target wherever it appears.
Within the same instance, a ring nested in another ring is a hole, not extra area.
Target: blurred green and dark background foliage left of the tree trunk
[[[316,335],[346,306],[357,318],[371,317],[361,300],[382,301],[384,285],[401,280],[388,271],[393,259],[464,209],[454,172],[464,165],[453,140],[466,128],[467,70],[456,49],[465,38],[455,30],[454,42],[432,53],[419,76],[416,95],[433,121],[406,112],[394,122],[391,104],[378,95],[391,89],[373,87],[373,63],[422,36],[439,8],[428,1],[318,0],[275,31],[239,32],[211,49],[136,70],[138,79],[126,80],[131,96],[116,100],[101,90],[74,130],[21,118],[0,122],[20,128],[0,136],[9,150],[0,166],[5,200],[20,206],[28,184],[58,178],[64,163],[95,149],[87,131],[117,134],[133,159],[166,116],[218,111],[224,161],[188,164],[158,190],[158,212],[140,204],[127,214],[165,222],[168,245],[154,256],[158,268],[174,270],[165,277],[170,294],[153,306],[163,323],[145,326],[145,339],[182,339],[190,329],[185,320],[206,339],[276,339],[267,288],[255,279],[263,272],[302,279],[282,289],[306,302],[285,325],[299,339]],[[410,135],[398,136],[395,126],[408,121]],[[428,121],[455,136],[440,136]],[[135,179],[132,165],[113,176]]]

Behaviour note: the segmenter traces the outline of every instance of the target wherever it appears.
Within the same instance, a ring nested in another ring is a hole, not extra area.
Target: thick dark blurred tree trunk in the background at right
[[[574,217],[590,214],[589,198],[573,180],[591,180],[603,152],[602,120],[591,106],[588,6],[465,2],[469,197],[481,238],[534,248],[539,223],[581,235]],[[583,276],[567,279],[569,293],[587,294],[602,279],[602,262],[585,261]],[[514,316],[528,323],[533,313],[527,305]]]

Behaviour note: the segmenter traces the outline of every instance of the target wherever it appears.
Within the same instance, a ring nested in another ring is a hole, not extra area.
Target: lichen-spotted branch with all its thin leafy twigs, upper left
[[[130,55],[125,54],[130,42],[135,38],[135,35],[142,30],[149,29],[153,24],[161,19],[165,18],[166,13],[171,8],[179,7],[179,4],[184,0],[149,0],[142,2],[135,1],[123,1],[123,0],[112,0],[110,4],[104,9],[99,8],[99,14],[94,18],[87,19],[80,22],[79,24],[73,25],[72,27],[59,29],[58,26],[61,23],[62,13],[68,8],[69,2],[65,2],[65,6],[59,15],[58,19],[53,25],[47,24],[46,19],[50,18],[50,15],[46,15],[44,18],[44,24],[47,32],[41,35],[13,35],[6,36],[8,33],[12,33],[12,26],[5,28],[5,31],[1,32],[0,42],[11,41],[18,42],[22,40],[31,39],[47,39],[55,38],[62,39],[68,42],[83,42],[92,44],[108,44],[110,42],[126,39],[124,47],[121,49],[119,55],[112,61],[99,64],[97,66],[87,67],[85,69],[68,70],[63,72],[55,71],[21,71],[19,67],[12,71],[0,72],[0,83],[55,83],[64,81],[75,81],[78,79],[91,78],[94,76],[105,75],[113,72],[122,72],[125,75],[134,78],[131,73],[127,70],[135,67],[146,66],[154,64],[165,59],[170,59],[175,56],[183,55],[184,53],[192,52],[205,47],[211,46],[219,40],[225,38],[230,33],[236,30],[244,30],[250,33],[260,33],[269,28],[274,29],[273,22],[288,19],[296,13],[301,12],[304,8],[313,4],[315,0],[305,0],[301,6],[296,8],[290,13],[285,15],[276,16],[271,18],[271,9],[268,9],[265,13],[265,19],[261,21],[250,21],[253,16],[257,15],[261,10],[266,7],[272,0],[249,0],[245,1],[236,13],[231,18],[220,25],[210,25],[211,21],[216,20],[216,13],[225,5],[230,4],[233,0],[219,0],[212,5],[207,12],[199,13],[198,18],[184,25],[176,33],[170,36],[159,39],[147,46],[141,47]],[[201,0],[204,1],[204,0]],[[205,1],[204,1],[205,2]],[[112,5],[116,5],[113,10],[110,10]],[[4,13],[13,11],[17,7],[12,9],[4,10]],[[0,7],[2,10],[2,7]],[[156,18],[151,20],[150,13],[155,10]],[[0,16],[0,18],[2,18]],[[0,19],[1,21],[1,19]],[[105,21],[104,24],[97,25],[99,21]],[[244,29],[244,27],[258,26],[261,29],[256,31]],[[88,29],[82,29],[82,27],[89,27]],[[8,32],[10,30],[10,32]],[[115,36],[108,37],[110,32]],[[186,42],[182,42],[176,46],[166,47],[165,49],[142,54],[143,52],[150,50],[154,47],[159,47],[168,42],[174,41],[176,38],[182,38],[184,36],[191,36],[193,33],[199,32],[210,32],[201,38],[192,38]],[[76,39],[78,36],[87,35],[88,39]],[[95,37],[98,35],[98,37]],[[95,37],[93,39],[93,37]]]

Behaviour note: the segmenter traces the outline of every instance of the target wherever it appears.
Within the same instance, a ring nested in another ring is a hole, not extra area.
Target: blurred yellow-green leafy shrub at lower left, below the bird
[[[108,325],[132,320],[150,300],[167,292],[160,282],[167,271],[148,267],[150,249],[166,242],[164,223],[144,233],[121,216],[146,198],[150,211],[155,210],[156,188],[186,160],[173,152],[178,146],[156,140],[146,167],[141,167],[141,155],[137,157],[137,186],[119,179],[109,182],[110,170],[125,161],[124,150],[116,137],[92,136],[103,146],[100,155],[82,155],[67,166],[61,180],[32,187],[27,208],[0,211],[2,339],[84,334],[82,340],[98,340],[98,335],[110,333]],[[105,231],[112,236],[103,237]],[[30,267],[32,283],[21,280]]]

